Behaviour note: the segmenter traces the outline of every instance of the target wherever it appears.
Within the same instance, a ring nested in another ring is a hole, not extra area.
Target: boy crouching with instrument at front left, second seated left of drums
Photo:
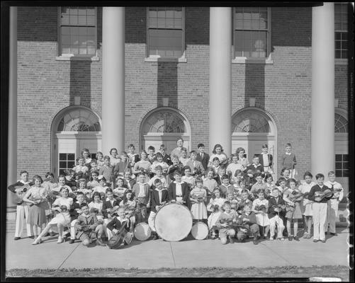
[[[89,206],[83,205],[81,210],[83,213],[79,215],[75,224],[75,229],[78,231],[77,238],[86,247],[89,246],[94,238],[96,238],[96,246],[106,246],[101,239],[103,235],[103,220],[97,218],[98,209],[89,210]]]

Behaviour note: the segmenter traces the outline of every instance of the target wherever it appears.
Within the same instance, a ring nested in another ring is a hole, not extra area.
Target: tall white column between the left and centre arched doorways
[[[102,151],[125,149],[125,8],[102,11]]]

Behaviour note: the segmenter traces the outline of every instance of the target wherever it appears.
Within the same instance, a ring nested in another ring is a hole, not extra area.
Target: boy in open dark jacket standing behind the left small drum
[[[137,223],[145,221],[147,208],[150,208],[150,185],[145,182],[145,173],[138,174],[138,183],[133,185],[133,195],[137,201]]]

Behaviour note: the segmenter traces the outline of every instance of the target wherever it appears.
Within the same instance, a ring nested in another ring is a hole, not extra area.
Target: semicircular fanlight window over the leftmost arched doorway
[[[94,113],[89,110],[77,109],[67,112],[62,117],[57,131],[100,132],[101,125]]]

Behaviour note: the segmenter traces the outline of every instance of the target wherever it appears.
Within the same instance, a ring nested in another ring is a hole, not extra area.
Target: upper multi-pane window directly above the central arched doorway
[[[184,54],[184,8],[147,8],[147,54],[177,59]]]

